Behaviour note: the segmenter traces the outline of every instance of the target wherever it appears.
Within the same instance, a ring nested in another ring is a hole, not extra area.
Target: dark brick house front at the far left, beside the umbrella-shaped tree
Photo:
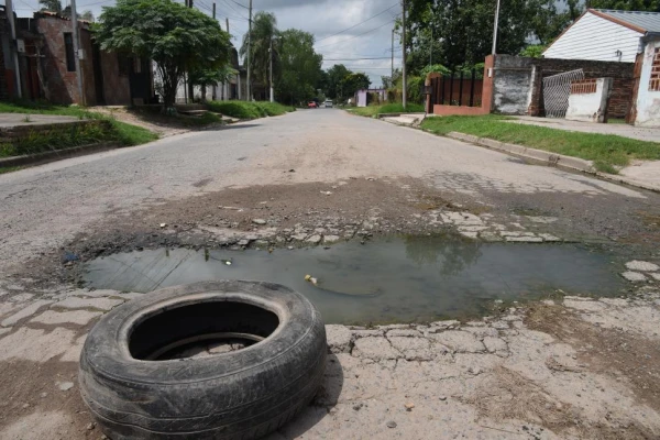
[[[45,11],[35,12],[33,18],[14,18],[14,42],[7,31],[8,19],[6,11],[0,10],[2,98],[19,97],[19,88],[23,99],[46,99],[58,105],[129,106],[146,103],[154,96],[151,61],[101,51],[88,22],[78,22],[80,95],[72,21]]]

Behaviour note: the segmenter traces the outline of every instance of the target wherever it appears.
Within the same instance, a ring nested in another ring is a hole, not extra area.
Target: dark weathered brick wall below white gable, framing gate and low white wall
[[[498,55],[498,57],[502,55]],[[635,85],[634,63],[594,62],[584,59],[531,58],[536,66],[528,114],[543,114],[542,78],[563,72],[582,69],[585,79],[613,78],[612,95],[607,105],[608,118],[626,118],[631,106],[631,92]]]

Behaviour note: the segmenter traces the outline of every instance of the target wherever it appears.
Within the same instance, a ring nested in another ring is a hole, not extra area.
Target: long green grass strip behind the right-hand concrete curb
[[[507,117],[487,114],[483,117],[427,118],[421,128],[431,133],[447,134],[455,131],[501,142],[529,146],[593,161],[596,169],[617,173],[630,160],[660,160],[660,143],[645,142],[612,135],[580,133],[546,127],[522,125],[507,122]]]

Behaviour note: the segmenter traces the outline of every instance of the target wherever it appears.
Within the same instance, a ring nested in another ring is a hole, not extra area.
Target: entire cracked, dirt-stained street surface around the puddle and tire
[[[319,109],[0,175],[0,200],[2,439],[101,438],[77,355],[98,317],[139,294],[77,288],[80,261],[448,231],[649,263],[613,263],[631,279],[625,299],[328,326],[324,388],[271,440],[660,437],[658,194]]]

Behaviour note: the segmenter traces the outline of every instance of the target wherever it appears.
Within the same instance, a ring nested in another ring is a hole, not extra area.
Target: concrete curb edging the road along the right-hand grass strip
[[[495,141],[486,138],[479,138],[472,134],[450,132],[446,134],[447,138],[455,139],[458,141],[470,142],[475,145],[485,146],[491,150],[496,150],[501,153],[510,154],[513,156],[521,157],[528,161],[541,163],[547,166],[554,166],[571,172],[580,172],[597,176],[604,180],[614,182],[616,184],[624,184],[634,186],[641,189],[648,189],[650,191],[660,193],[660,185],[653,185],[646,182],[639,182],[625,176],[617,176],[614,174],[607,174],[596,170],[591,161],[585,161],[579,157],[564,156],[563,154],[549,153],[542,150],[529,148],[527,146],[507,144],[505,142]]]

